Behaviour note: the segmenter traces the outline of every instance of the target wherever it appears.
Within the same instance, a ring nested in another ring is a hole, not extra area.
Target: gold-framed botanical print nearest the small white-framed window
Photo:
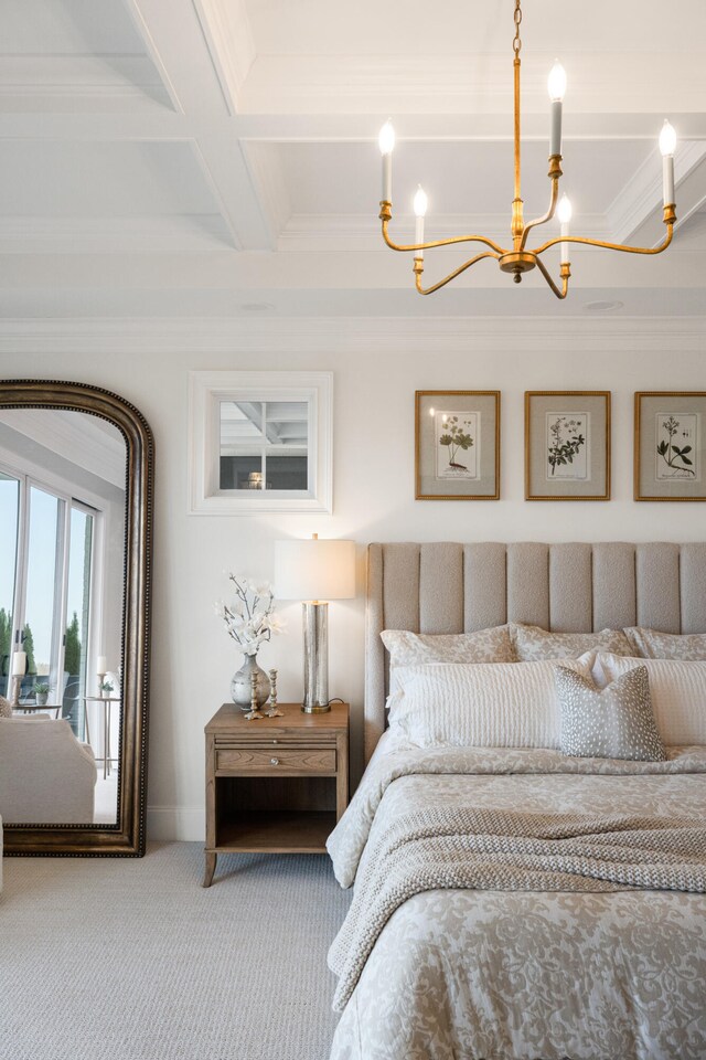
[[[417,500],[498,500],[500,391],[418,390]]]

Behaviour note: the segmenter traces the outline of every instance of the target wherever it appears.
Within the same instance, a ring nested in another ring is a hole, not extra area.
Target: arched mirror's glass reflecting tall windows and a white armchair
[[[0,410],[4,824],[117,820],[126,458],[97,416]]]

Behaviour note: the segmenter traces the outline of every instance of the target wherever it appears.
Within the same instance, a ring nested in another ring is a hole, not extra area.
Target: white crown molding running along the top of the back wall
[[[53,378],[55,358],[63,353],[90,356],[195,354],[222,356],[208,369],[233,368],[234,353],[347,353],[370,350],[469,351],[486,354],[517,352],[541,356],[566,351],[571,356],[596,349],[622,352],[656,350],[704,356],[706,315],[673,318],[621,317],[279,317],[252,318],[7,318],[0,320],[0,356],[46,356],[43,373]],[[196,367],[195,362],[191,367]],[[267,367],[266,364],[263,367]],[[18,369],[13,368],[17,375]],[[0,362],[0,373],[10,372]]]

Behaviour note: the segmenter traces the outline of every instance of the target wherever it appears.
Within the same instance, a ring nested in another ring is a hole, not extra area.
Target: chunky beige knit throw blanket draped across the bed
[[[362,868],[362,866],[361,866]],[[408,898],[437,888],[706,892],[703,818],[522,814],[467,807],[397,818],[366,851],[329,952],[343,1010],[383,928]]]

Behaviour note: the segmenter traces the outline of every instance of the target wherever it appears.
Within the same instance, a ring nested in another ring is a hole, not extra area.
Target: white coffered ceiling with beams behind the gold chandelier
[[[548,99],[567,70],[576,234],[661,239],[664,117],[677,129],[673,246],[573,250],[559,304],[483,262],[438,295],[379,237],[507,242],[512,0],[2,0],[0,311],[6,317],[706,315],[706,4],[524,0],[523,197],[546,209]],[[557,234],[555,225],[550,234]],[[468,255],[467,255],[468,256]],[[425,282],[463,261],[428,254]]]

